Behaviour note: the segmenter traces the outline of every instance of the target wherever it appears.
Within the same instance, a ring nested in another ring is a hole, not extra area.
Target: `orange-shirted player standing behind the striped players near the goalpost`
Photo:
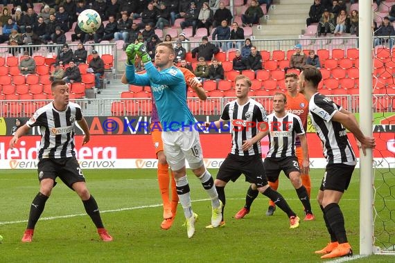
[[[308,115],[308,101],[306,98],[304,98],[301,93],[297,91],[297,80],[299,79],[298,75],[295,73],[287,73],[285,82],[286,82],[286,88],[287,88],[287,107],[286,110],[292,114],[296,114],[299,116],[301,119],[301,122],[303,123],[304,130],[306,131],[307,129],[307,115]],[[295,141],[295,146],[296,146],[296,156],[298,159],[299,167],[303,167],[302,161],[304,161],[303,158],[303,151],[301,149],[301,143],[299,140],[299,136],[297,136],[296,141]],[[308,174],[308,170],[301,170],[301,183],[304,185],[304,187],[307,190],[308,193],[308,198],[310,199],[310,192],[311,192],[311,181],[310,181],[310,175]],[[277,190],[279,188],[279,180],[275,182],[269,181],[269,185],[272,189]],[[269,208],[267,208],[266,215],[273,215],[274,210],[276,210],[276,206],[273,203],[272,200],[269,200]],[[309,214],[308,212],[305,211],[305,217],[304,220],[313,220],[314,216],[313,214]]]

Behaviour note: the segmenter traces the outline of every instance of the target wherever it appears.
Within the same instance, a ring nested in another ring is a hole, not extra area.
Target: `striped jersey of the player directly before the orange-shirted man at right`
[[[297,135],[305,134],[299,116],[287,113],[278,118],[275,113],[267,116],[269,123],[269,152],[267,157],[279,158],[296,156],[295,141]]]

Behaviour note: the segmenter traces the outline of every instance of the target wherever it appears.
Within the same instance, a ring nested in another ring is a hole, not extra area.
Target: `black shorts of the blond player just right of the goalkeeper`
[[[263,161],[258,154],[253,156],[228,154],[220,166],[216,179],[225,182],[236,181],[241,174],[245,175],[245,181],[255,183],[258,188],[267,185]]]

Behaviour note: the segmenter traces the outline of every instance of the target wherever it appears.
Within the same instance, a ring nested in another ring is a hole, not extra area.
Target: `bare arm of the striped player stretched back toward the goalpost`
[[[351,112],[346,111],[345,109],[341,109],[340,111],[336,111],[335,115],[333,115],[332,120],[337,121],[338,123],[342,123],[342,125],[351,131],[357,140],[361,144],[362,152],[366,155],[366,148],[374,148],[376,147],[376,139],[373,137],[365,136],[357,123],[356,117],[351,114]]]

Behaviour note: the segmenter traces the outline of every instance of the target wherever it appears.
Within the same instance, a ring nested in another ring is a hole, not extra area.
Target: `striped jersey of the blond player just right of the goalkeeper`
[[[261,142],[255,143],[248,151],[241,150],[243,142],[258,133],[258,123],[267,121],[265,108],[259,102],[251,98],[245,105],[238,105],[237,100],[228,102],[222,111],[221,119],[230,120],[231,123],[231,154],[240,156],[261,154]]]

